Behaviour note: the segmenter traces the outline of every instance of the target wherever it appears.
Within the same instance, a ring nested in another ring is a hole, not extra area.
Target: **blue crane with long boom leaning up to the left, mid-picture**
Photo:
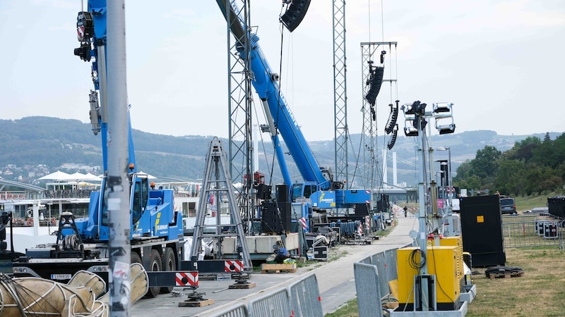
[[[286,187],[280,187],[280,190],[285,190],[285,188],[288,190],[287,195],[277,195],[279,197],[278,202],[285,200],[280,197],[287,197],[288,201],[292,203],[296,203],[302,198],[309,199],[309,201],[302,203],[302,216],[298,216],[298,218],[302,217],[307,220],[311,216],[312,210],[337,211],[338,209],[351,208],[357,204],[370,204],[370,190],[345,189],[343,182],[333,179],[330,169],[319,166],[304,135],[302,135],[299,125],[292,116],[285,97],[280,92],[279,76],[271,70],[261,46],[259,46],[258,36],[239,20],[238,13],[240,10],[234,4],[234,1],[230,1],[230,4],[223,0],[216,0],[216,2],[226,20],[230,21],[232,35],[239,39],[239,43],[236,45],[239,55],[242,59],[249,59],[250,73],[253,74],[251,84],[261,99],[261,104],[263,104],[266,113],[268,130],[286,185]],[[292,10],[292,6],[297,5],[294,4],[295,2],[309,3],[309,1],[292,1],[290,10]],[[304,11],[303,13],[305,14]],[[302,18],[304,16],[298,19],[302,20]],[[289,23],[285,21],[285,17],[281,20],[291,31],[297,25],[292,23],[292,27],[290,27]],[[246,41],[249,41],[249,43],[246,43]],[[246,47],[249,49],[245,49]],[[304,182],[292,183],[278,138],[279,133],[283,137]],[[309,227],[309,223],[307,223],[307,227]]]

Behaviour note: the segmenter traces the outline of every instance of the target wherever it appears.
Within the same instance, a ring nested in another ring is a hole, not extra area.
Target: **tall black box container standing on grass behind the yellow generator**
[[[504,266],[504,237],[499,195],[464,197],[460,200],[463,251],[476,267]]]

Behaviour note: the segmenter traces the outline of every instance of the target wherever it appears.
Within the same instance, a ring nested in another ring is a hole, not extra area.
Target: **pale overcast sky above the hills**
[[[332,6],[312,1],[281,50],[281,1],[251,1],[251,24],[309,141],[334,135]],[[565,1],[383,0],[382,8],[346,4],[350,133],[362,128],[360,43],[383,41],[398,42],[389,54],[398,69],[385,77],[398,80],[400,103],[453,102],[456,132],[565,131]],[[80,0],[0,0],[0,118],[88,123],[90,63],[73,56],[78,11]],[[126,39],[134,129],[227,137],[226,26],[215,1],[126,1]],[[379,135],[386,85],[376,101]]]

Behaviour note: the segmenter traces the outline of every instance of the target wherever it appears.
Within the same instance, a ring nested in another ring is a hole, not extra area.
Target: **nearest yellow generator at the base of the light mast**
[[[458,310],[460,278],[463,277],[463,267],[459,265],[462,255],[458,246],[427,247],[427,257],[422,259],[420,248],[409,247],[398,249],[396,253],[398,269],[398,302],[396,311],[420,310],[422,307],[421,293],[414,287],[415,281],[428,281],[430,310]],[[427,264],[427,275],[420,276],[422,263]],[[434,275],[434,276],[430,276]],[[417,298],[416,304],[414,299]]]

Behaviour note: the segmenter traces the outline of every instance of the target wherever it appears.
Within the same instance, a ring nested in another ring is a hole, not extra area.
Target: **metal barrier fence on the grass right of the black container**
[[[503,218],[504,247],[559,246],[563,249],[562,220],[542,220],[534,216],[507,216]]]

